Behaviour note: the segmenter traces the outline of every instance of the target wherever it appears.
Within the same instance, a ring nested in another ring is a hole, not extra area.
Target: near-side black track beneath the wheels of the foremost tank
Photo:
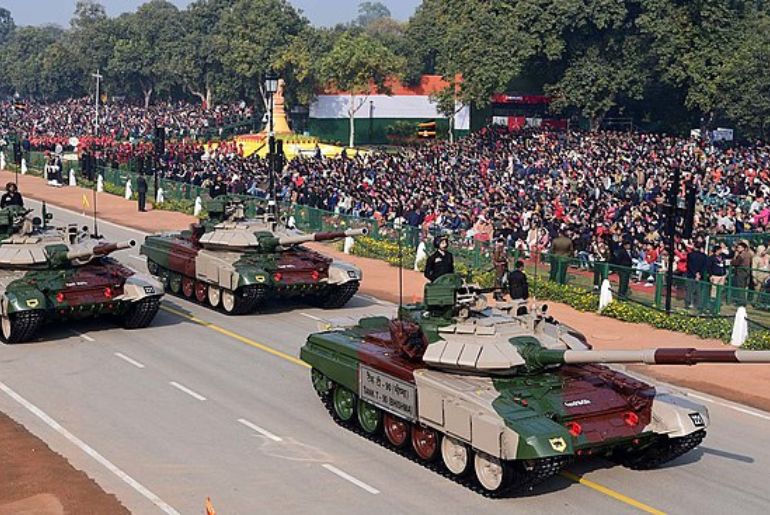
[[[422,467],[428,470],[431,470],[436,474],[443,476],[446,479],[467,488],[468,490],[471,490],[489,499],[500,499],[500,498],[510,497],[511,495],[516,493],[525,493],[528,490],[531,490],[535,485],[542,483],[543,481],[546,481],[547,479],[558,474],[565,466],[567,466],[572,461],[571,457],[568,457],[568,456],[542,458],[542,459],[536,460],[534,462],[534,468],[532,470],[514,471],[513,480],[510,482],[510,484],[506,488],[499,490],[497,492],[490,492],[485,488],[483,488],[478,483],[472,471],[462,476],[456,476],[446,469],[446,467],[441,461],[440,456],[438,459],[430,462],[423,461],[414,454],[414,451],[412,451],[411,446],[406,445],[402,448],[397,448],[391,445],[390,442],[388,442],[385,439],[385,437],[382,435],[381,430],[378,431],[376,434],[369,434],[358,426],[358,424],[356,423],[355,417],[353,417],[353,419],[348,422],[341,420],[334,411],[334,407],[332,405],[331,390],[327,394],[322,394],[318,390],[315,390],[315,392],[318,395],[318,397],[321,399],[321,403],[324,405],[326,410],[329,412],[329,415],[332,417],[334,422],[337,423],[337,425],[357,434],[362,438],[365,438],[366,440],[369,440],[370,442],[374,442],[379,446],[388,449],[391,452],[394,452],[400,456],[403,456],[409,461],[416,463],[418,465],[421,465]]]

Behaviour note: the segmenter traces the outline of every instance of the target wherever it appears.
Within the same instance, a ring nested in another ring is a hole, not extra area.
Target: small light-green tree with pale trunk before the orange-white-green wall
[[[356,113],[370,92],[390,93],[388,79],[396,78],[403,64],[403,59],[366,34],[344,34],[323,57],[322,81],[349,95],[350,147],[355,146]]]

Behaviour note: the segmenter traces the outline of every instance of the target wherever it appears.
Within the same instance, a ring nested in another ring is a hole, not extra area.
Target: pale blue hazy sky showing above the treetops
[[[191,0],[170,0],[179,7],[184,7]],[[305,16],[314,25],[334,25],[350,21],[358,14],[358,4],[361,0],[289,0],[297,8],[304,11]],[[421,0],[381,0],[390,9],[393,17],[406,20]],[[143,0],[102,0],[107,12],[117,15],[125,11],[133,11],[143,4]],[[13,15],[17,25],[40,25],[56,23],[63,27],[69,26],[69,20],[75,10],[75,0],[0,0],[0,7],[5,7]]]

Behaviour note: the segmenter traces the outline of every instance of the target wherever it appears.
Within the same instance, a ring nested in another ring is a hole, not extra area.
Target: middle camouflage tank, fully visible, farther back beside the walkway
[[[227,314],[255,311],[272,298],[303,297],[324,308],[344,306],[361,270],[302,247],[366,234],[366,229],[303,234],[270,220],[247,218],[236,197],[208,202],[209,219],[189,230],[148,236],[147,268],[174,294]]]

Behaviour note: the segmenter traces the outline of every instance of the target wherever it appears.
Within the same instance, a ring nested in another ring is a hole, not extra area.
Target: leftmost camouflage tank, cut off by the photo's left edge
[[[127,329],[155,318],[163,286],[109,257],[136,245],[93,238],[88,229],[48,227],[51,215],[0,210],[0,337],[32,339],[46,322],[113,315]]]

